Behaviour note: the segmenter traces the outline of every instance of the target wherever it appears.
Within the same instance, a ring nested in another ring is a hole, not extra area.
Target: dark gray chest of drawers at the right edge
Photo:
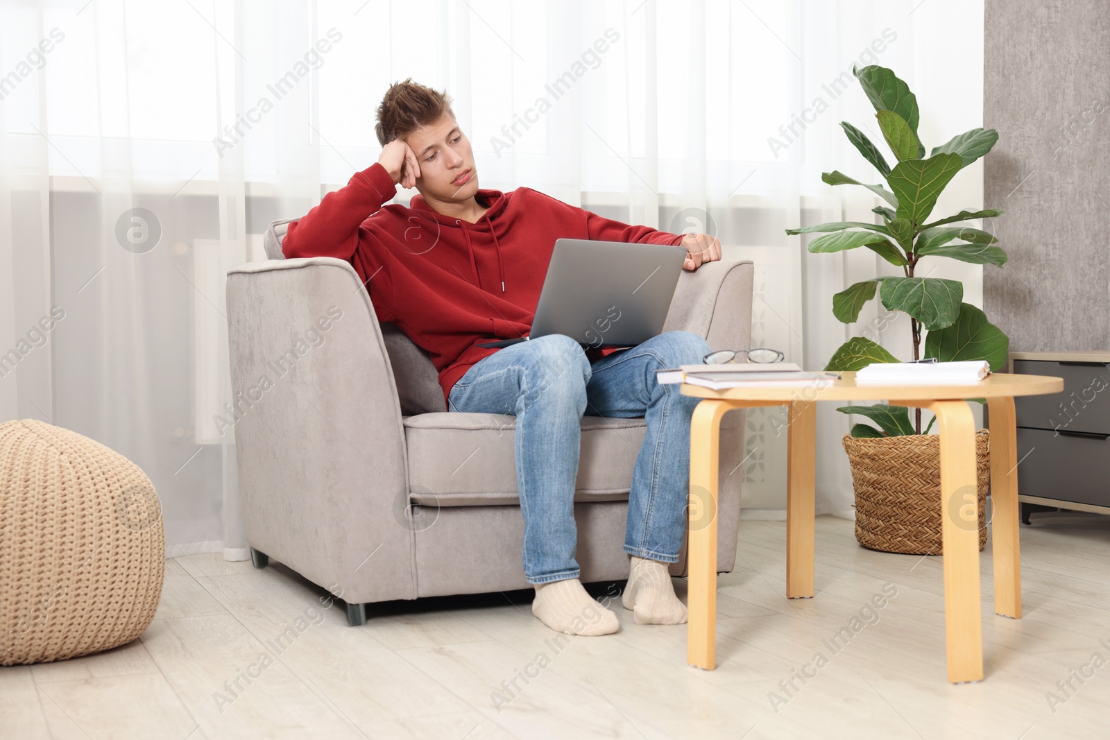
[[[1063,378],[1015,398],[1019,500],[1110,514],[1110,352],[1013,352],[1010,372]]]

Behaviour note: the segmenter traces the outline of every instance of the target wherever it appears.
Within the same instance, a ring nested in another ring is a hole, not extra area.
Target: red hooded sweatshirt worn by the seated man
[[[286,257],[346,260],[370,292],[377,320],[392,322],[432,356],[444,399],[472,365],[497,352],[480,342],[524,336],[557,239],[677,245],[682,235],[629,226],[531,187],[482,190],[488,211],[470,223],[432,210],[383,206],[396,184],[381,163],[289,225]]]

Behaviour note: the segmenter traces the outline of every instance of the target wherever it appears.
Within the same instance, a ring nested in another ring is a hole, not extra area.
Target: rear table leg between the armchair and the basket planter
[[[786,598],[814,595],[814,481],[817,403],[794,402],[786,407]]]

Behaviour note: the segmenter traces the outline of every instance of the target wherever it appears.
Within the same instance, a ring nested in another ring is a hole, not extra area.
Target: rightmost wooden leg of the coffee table
[[[1018,438],[1013,398],[988,398],[987,404],[990,409],[990,539],[995,560],[995,611],[1021,619]]]

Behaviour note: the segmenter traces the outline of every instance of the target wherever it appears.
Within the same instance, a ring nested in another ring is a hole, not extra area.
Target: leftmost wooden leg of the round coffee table
[[[717,467],[720,418],[733,404],[705,399],[690,419],[686,662],[713,670],[717,647]],[[703,516],[708,514],[708,516]]]

